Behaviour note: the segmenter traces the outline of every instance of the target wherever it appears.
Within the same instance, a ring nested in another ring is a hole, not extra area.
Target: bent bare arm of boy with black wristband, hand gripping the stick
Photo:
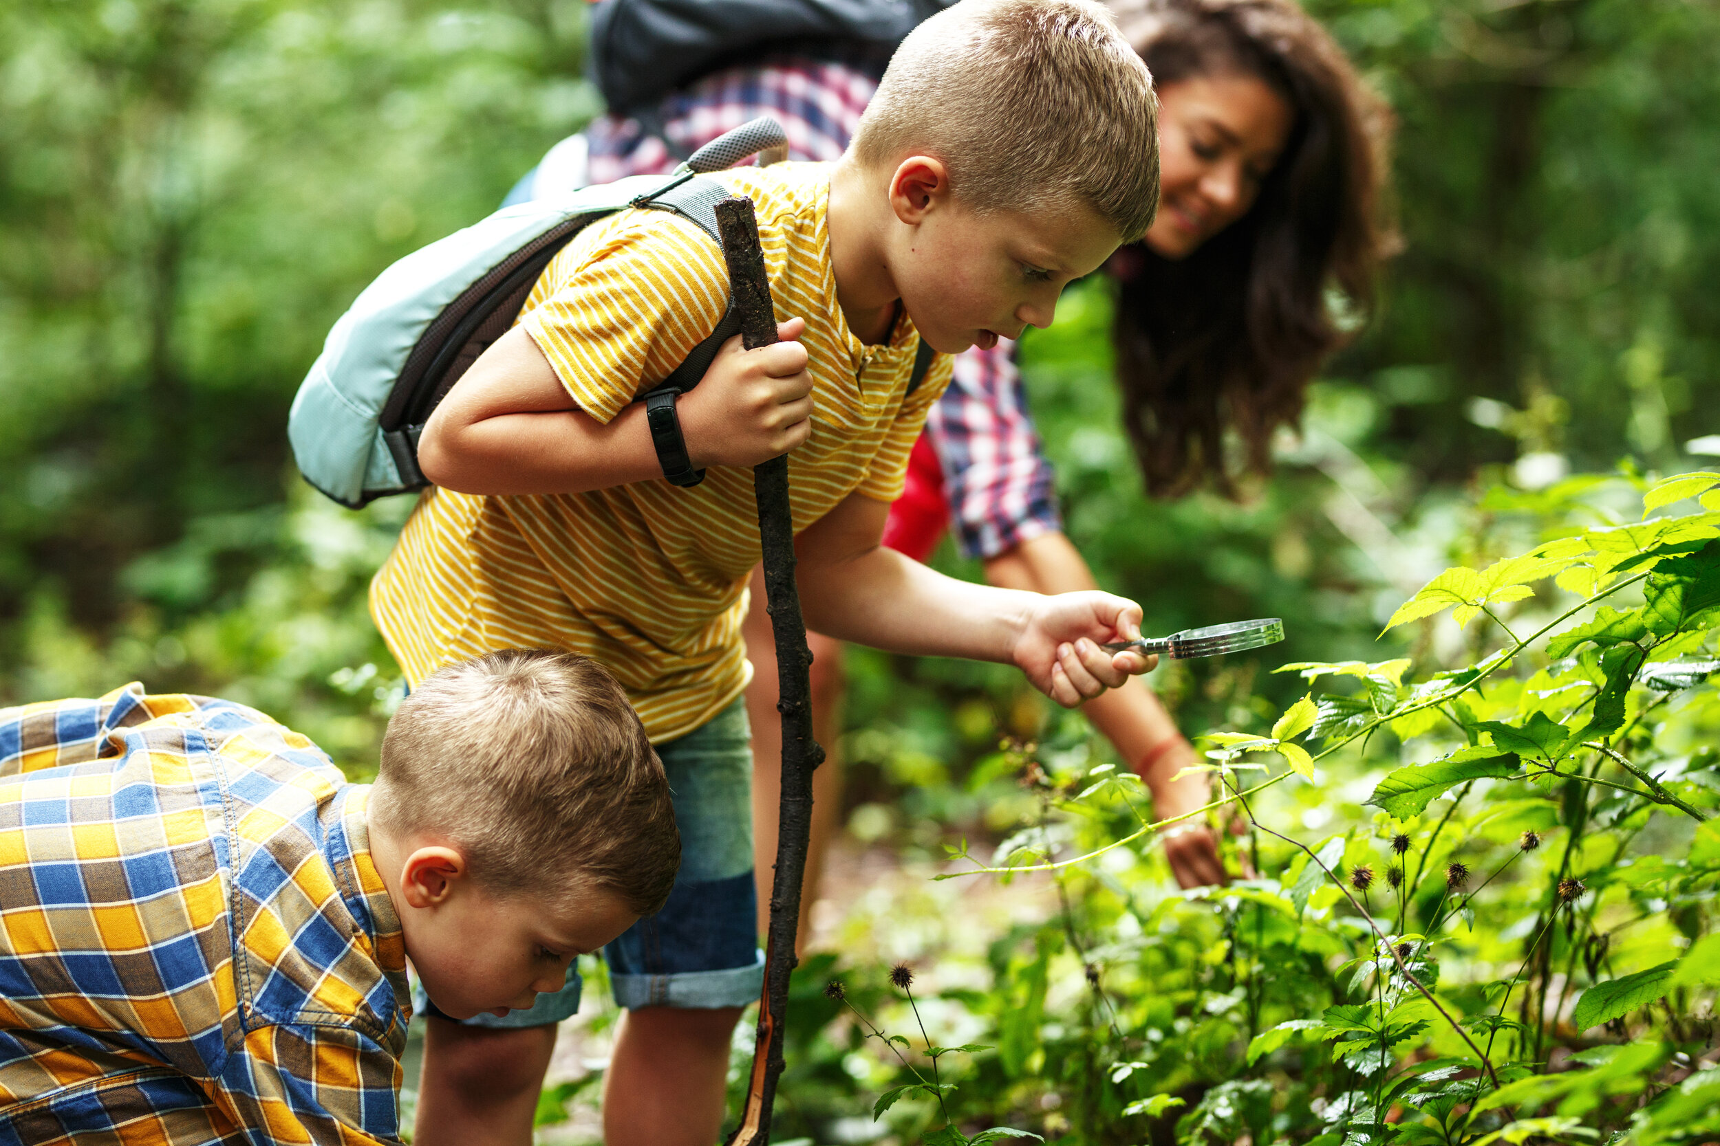
[[[729,338],[676,412],[693,469],[753,466],[812,433],[812,376],[795,342],[805,321],[777,323],[783,342],[743,351]],[[525,326],[497,338],[449,390],[418,442],[418,464],[459,493],[583,493],[662,478],[645,407],[607,424],[578,409]]]

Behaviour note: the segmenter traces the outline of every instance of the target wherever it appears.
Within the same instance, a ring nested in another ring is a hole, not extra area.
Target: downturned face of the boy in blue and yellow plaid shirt
[[[406,952],[425,993],[451,1019],[531,1007],[559,991],[574,955],[595,952],[638,919],[616,895],[495,895],[470,876],[430,911],[401,912]]]

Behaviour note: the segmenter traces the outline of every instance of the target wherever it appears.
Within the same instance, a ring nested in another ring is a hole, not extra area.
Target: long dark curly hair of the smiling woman
[[[1225,431],[1264,472],[1273,431],[1300,421],[1307,383],[1345,340],[1328,292],[1357,320],[1373,308],[1374,271],[1397,244],[1381,204],[1391,119],[1292,0],[1111,7],[1159,89],[1245,74],[1295,112],[1247,215],[1183,259],[1135,244],[1113,261],[1123,421],[1147,491],[1211,483],[1230,495]]]

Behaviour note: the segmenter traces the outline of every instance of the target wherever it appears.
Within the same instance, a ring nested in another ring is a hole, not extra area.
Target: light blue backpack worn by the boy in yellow
[[[760,117],[705,144],[669,177],[635,175],[507,206],[382,271],[329,332],[292,399],[287,436],[299,472],[353,509],[428,486],[418,469],[418,435],[430,412],[507,333],[573,235],[638,206],[674,211],[721,244],[714,208],[728,191],[702,174],[786,144],[783,127]],[[691,390],[738,332],[731,302],[717,330],[659,388]]]

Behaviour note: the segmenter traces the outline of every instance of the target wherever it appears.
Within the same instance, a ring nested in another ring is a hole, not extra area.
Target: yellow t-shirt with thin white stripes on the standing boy
[[[827,163],[722,172],[752,196],[779,320],[807,320],[815,412],[789,455],[795,529],[850,493],[893,502],[925,412],[949,383],[939,356],[906,395],[918,333],[865,345],[836,302]],[[600,220],[550,261],[521,311],[580,409],[607,423],[662,381],[728,306],[717,244],[667,211]],[[746,687],[740,625],[759,562],[752,471],[714,466],[593,493],[470,497],[428,490],[372,584],[372,613],[406,679],[504,648],[562,648],[605,665],[654,742],[716,716]]]

